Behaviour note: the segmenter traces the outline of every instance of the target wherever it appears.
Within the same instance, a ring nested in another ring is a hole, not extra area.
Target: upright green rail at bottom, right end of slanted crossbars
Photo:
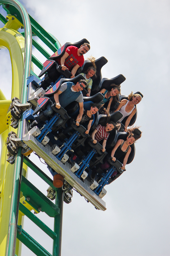
[[[53,241],[53,255],[61,255],[62,246],[62,213],[63,213],[63,191],[62,188],[58,188],[56,191],[56,206],[60,209],[61,214],[54,217],[54,232],[57,237]]]

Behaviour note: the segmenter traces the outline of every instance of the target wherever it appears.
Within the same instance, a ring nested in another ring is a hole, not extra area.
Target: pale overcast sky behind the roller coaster
[[[135,123],[141,126],[142,137],[135,144],[135,158],[126,166],[126,172],[105,187],[107,210],[96,210],[75,191],[72,202],[64,203],[62,256],[169,256],[170,2],[21,2],[61,45],[87,38],[91,50],[84,57],[104,56],[108,60],[102,77],[126,77],[122,95],[131,91],[144,95],[137,106]],[[36,56],[42,63],[45,61],[43,56]],[[10,99],[11,63],[7,50],[0,50],[0,59],[1,89]],[[36,67],[35,73],[40,73]],[[39,166],[50,176],[44,164]],[[28,179],[46,195],[46,183],[37,180],[32,171]],[[44,215],[39,213],[37,217],[52,227],[52,220]],[[24,229],[52,253],[52,240],[43,232],[36,233],[27,218]],[[22,255],[34,254],[23,246]]]

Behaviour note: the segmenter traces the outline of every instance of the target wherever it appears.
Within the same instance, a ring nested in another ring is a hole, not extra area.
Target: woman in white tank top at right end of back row
[[[142,97],[140,94],[133,94],[133,92],[131,92],[130,95],[128,96],[128,100],[121,100],[119,106],[114,111],[116,112],[119,110],[123,114],[123,117],[120,120],[118,120],[119,122],[121,122],[126,116],[129,116],[125,122],[125,132],[127,132],[127,127],[130,123],[130,120],[136,113],[135,105],[138,104],[141,100]]]

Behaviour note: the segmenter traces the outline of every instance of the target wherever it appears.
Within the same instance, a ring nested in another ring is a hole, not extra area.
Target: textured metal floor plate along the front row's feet
[[[28,133],[28,122],[23,120],[22,141],[34,150],[44,161],[49,164],[57,173],[83,195],[91,204],[99,210],[106,210],[105,202],[96,195],[90,188],[92,180],[88,177],[82,181],[71,171],[71,164],[62,164],[57,157],[52,154],[52,148],[46,144],[43,146],[35,137]]]

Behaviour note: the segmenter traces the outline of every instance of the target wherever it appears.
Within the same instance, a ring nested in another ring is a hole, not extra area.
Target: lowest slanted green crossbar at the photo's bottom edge
[[[22,229],[21,225],[17,228],[17,238],[37,256],[52,256],[36,240],[28,235],[28,233]]]

